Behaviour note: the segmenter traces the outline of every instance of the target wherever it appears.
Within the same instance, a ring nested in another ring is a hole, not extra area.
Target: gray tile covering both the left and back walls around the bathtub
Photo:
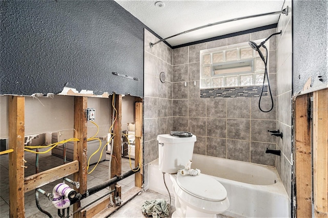
[[[163,42],[150,49],[149,42],[158,39],[145,30],[146,172],[148,163],[158,158],[157,135],[170,133],[171,130],[188,131],[196,135],[195,154],[275,166],[277,156],[266,154],[265,149],[277,148],[277,137],[268,132],[279,126],[276,124],[276,37],[270,39],[268,67],[274,108],[269,113],[260,112],[259,98],[254,96],[201,98],[199,51],[265,39],[276,31],[276,28],[263,30],[172,51]],[[160,72],[166,73],[166,83],[160,82]],[[270,97],[263,96],[262,109],[268,110],[270,106]]]

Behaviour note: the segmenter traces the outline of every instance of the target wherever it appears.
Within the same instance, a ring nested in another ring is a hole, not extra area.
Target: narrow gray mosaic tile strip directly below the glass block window
[[[244,86],[200,90],[200,98],[258,98],[262,86]],[[263,96],[268,96],[268,85],[264,85]]]

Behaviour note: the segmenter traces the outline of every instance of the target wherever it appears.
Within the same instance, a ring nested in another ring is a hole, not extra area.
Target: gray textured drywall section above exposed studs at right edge
[[[328,83],[328,1],[293,1],[293,93],[318,76]]]

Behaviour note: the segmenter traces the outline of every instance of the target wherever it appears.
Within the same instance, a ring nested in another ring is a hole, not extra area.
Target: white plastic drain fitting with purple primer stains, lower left
[[[70,200],[73,200],[76,197],[76,191],[70,188],[65,183],[57,184],[53,190],[53,199],[52,204],[57,209],[68,208],[71,205]],[[66,198],[65,198],[66,197]]]

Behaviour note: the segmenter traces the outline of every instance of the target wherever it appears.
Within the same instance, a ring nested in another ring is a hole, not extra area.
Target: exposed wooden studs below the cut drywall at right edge
[[[294,108],[296,217],[327,217],[328,89],[297,96]]]

